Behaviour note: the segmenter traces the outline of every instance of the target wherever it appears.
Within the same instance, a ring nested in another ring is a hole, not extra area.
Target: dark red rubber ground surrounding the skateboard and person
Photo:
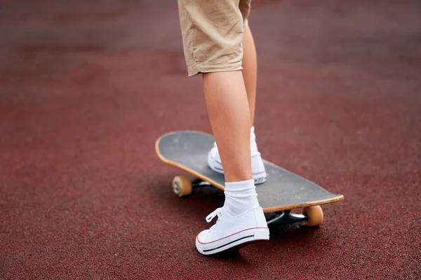
[[[345,195],[318,229],[208,258],[223,202],[155,155],[210,132],[177,1],[0,10],[1,279],[420,279],[420,1],[254,0],[263,156]]]

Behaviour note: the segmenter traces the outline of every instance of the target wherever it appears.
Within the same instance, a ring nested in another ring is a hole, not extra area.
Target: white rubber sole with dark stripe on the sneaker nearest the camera
[[[231,248],[243,248],[244,246],[267,240],[269,240],[268,228],[253,228],[207,244],[199,242],[199,239],[196,237],[196,249],[202,255],[213,255]]]

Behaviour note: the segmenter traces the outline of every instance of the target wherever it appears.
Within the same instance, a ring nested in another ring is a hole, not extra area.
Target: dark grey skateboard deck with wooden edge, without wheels
[[[225,177],[208,167],[208,152],[213,147],[210,134],[178,131],[164,134],[156,140],[156,154],[204,182],[224,190]],[[260,206],[265,213],[312,207],[338,202],[343,195],[328,192],[321,186],[264,160],[267,181],[256,186]]]

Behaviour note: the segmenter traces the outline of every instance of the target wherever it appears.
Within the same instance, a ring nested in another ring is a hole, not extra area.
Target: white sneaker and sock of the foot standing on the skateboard
[[[262,157],[258,151],[258,144],[256,144],[256,137],[254,133],[254,127],[250,130],[250,152],[251,152],[251,172],[253,173],[253,179],[255,184],[265,183],[266,181],[266,170],[263,164]],[[208,153],[208,165],[214,172],[224,174],[222,168],[220,154],[218,152],[218,146],[216,143],[213,144],[213,148]]]

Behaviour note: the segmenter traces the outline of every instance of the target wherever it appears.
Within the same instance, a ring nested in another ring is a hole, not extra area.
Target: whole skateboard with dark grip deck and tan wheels
[[[175,195],[185,197],[191,195],[194,188],[203,186],[224,190],[224,174],[208,167],[208,152],[214,141],[212,135],[197,131],[170,132],[156,140],[156,154],[163,162],[196,177],[192,181],[187,176],[175,176]],[[256,185],[256,191],[268,225],[304,222],[307,226],[319,226],[323,222],[320,205],[344,199],[343,195],[330,193],[271,162],[263,162],[267,180]],[[298,208],[302,208],[302,214],[291,213]]]

